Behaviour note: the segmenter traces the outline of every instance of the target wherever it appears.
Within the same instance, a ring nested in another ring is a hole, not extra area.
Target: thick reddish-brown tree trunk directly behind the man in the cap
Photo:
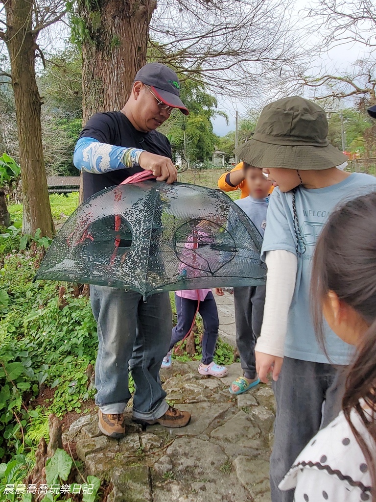
[[[156,7],[155,0],[96,0],[91,10],[88,4],[79,0],[79,14],[87,28],[82,44],[84,122],[94,113],[124,106],[135,74],[146,63]]]

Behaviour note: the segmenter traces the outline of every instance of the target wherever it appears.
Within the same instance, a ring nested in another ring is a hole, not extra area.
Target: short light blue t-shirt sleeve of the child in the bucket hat
[[[266,253],[282,249],[296,255],[296,237],[292,216],[292,194],[273,190],[266,215],[265,235],[261,249],[261,260],[265,262]]]

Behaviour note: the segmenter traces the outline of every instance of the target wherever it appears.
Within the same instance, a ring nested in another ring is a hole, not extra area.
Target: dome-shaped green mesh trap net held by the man
[[[155,181],[86,200],[55,237],[37,279],[161,291],[265,284],[262,237],[223,192]]]

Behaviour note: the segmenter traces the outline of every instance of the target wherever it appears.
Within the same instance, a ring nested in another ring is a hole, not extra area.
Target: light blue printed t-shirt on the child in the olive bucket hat
[[[299,187],[295,193],[299,229],[306,245],[303,255],[298,255],[298,270],[292,298],[285,342],[287,357],[304,361],[329,362],[316,341],[310,314],[309,286],[312,256],[317,237],[330,213],[340,202],[376,190],[376,178],[367,174],[353,173],[346,179],[325,188],[306,189]],[[296,253],[296,237],[292,211],[292,192],[273,190],[268,209],[267,226],[261,258],[265,261],[268,251],[284,249]],[[344,228],[345,232],[346,229]],[[326,347],[330,362],[348,364],[353,353],[350,345],[338,338],[325,325]]]

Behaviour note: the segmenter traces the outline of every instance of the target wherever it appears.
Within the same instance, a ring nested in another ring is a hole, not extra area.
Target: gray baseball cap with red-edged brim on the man
[[[149,85],[156,97],[163,103],[179,108],[184,115],[189,114],[180,100],[180,83],[176,73],[160,63],[147,63],[138,70],[134,81]]]

